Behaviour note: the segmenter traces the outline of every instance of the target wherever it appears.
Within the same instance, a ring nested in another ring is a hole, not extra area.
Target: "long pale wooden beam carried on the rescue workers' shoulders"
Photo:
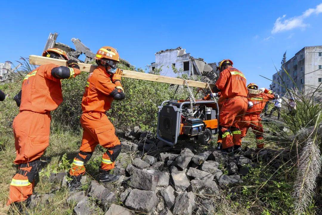
[[[67,66],[67,63],[65,60],[42,57],[37,55],[30,55],[29,63],[34,65],[56,64],[58,66]],[[84,63],[78,63],[78,64],[80,66],[81,72],[91,73],[97,67],[96,65],[92,65],[92,64],[84,64]],[[123,70],[122,77],[161,82],[161,83],[185,85],[184,79],[181,79],[181,78],[173,78],[173,77],[167,77],[167,76],[155,75],[155,74],[149,74],[149,73],[140,73],[140,72],[130,71],[130,70]],[[205,82],[187,80],[187,83],[191,87],[207,88],[207,83]],[[209,85],[211,88],[214,87],[214,84],[209,84]]]

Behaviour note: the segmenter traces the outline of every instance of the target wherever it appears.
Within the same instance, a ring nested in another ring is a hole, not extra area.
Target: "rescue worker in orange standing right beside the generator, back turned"
[[[219,110],[219,140],[222,140],[222,149],[230,154],[241,151],[241,131],[239,121],[248,107],[246,78],[233,63],[225,59],[219,63],[217,70],[219,78],[213,91],[220,92]]]

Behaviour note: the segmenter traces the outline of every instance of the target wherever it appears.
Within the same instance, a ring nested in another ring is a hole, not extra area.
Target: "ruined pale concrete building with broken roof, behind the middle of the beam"
[[[157,52],[156,61],[149,66],[151,73],[155,69],[161,68],[161,75],[175,77],[177,74],[173,71],[172,66],[180,71],[180,73],[190,75],[201,75],[209,78],[216,78],[217,64],[207,64],[203,58],[194,58],[190,53],[186,53],[185,49],[180,46],[175,49],[166,49]]]

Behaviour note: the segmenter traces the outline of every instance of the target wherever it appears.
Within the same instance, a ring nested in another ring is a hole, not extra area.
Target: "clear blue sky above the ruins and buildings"
[[[287,50],[322,45],[322,3],[315,1],[11,1],[0,13],[0,62],[41,54],[50,32],[93,52],[103,45],[137,67],[181,46],[207,63],[230,58],[247,82],[268,87]],[[317,6],[318,5],[318,6]]]

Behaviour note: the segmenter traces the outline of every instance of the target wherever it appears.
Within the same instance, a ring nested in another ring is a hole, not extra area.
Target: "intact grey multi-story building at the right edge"
[[[305,93],[322,89],[322,46],[307,46],[282,65],[284,69],[273,74],[272,90],[284,95],[287,89]],[[293,82],[294,81],[294,82]]]

